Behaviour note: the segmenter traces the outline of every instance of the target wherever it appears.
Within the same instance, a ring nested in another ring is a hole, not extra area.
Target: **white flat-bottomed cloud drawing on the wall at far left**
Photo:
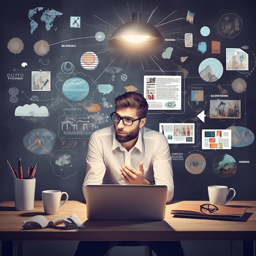
[[[48,109],[45,106],[39,108],[35,103],[25,104],[24,106],[18,106],[14,115],[16,117],[48,117]]]

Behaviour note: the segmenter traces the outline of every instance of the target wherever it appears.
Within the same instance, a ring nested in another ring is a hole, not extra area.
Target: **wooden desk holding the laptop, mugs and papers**
[[[205,201],[182,201],[203,204]],[[70,216],[74,211],[84,222],[85,229],[64,228],[23,230],[22,222],[35,215],[43,215],[42,201],[36,201],[32,211],[15,211],[14,202],[0,203],[0,240],[88,240],[88,241],[165,241],[165,240],[256,240],[256,201],[231,201],[227,205],[249,207],[240,221],[177,218],[166,205],[163,221],[93,221],[86,218],[86,204],[67,201],[57,215],[49,220]],[[247,242],[245,242],[247,243]],[[248,244],[249,247],[252,244]],[[248,252],[249,253],[249,252]],[[249,256],[249,254],[246,256]],[[253,255],[250,252],[250,255]]]

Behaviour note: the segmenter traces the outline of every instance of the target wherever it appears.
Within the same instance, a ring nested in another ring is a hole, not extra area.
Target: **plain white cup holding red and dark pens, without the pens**
[[[16,211],[34,209],[36,179],[14,180],[14,202]]]

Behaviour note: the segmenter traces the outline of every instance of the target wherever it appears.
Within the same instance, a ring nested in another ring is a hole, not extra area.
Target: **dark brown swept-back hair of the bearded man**
[[[146,117],[148,112],[147,100],[137,92],[126,92],[115,98],[116,109],[119,108],[137,108],[138,117]]]

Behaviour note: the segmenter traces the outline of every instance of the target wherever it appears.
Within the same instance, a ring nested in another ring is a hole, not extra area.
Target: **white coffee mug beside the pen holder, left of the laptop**
[[[66,195],[65,201],[60,204],[61,196]],[[63,206],[68,200],[67,192],[61,192],[60,190],[44,190],[42,191],[42,200],[45,214],[53,215],[58,213],[59,207]]]

